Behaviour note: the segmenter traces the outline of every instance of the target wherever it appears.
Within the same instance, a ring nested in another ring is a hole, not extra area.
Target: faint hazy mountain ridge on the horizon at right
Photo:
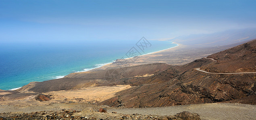
[[[212,34],[192,34],[179,36],[170,41],[196,47],[223,46],[239,42],[248,42],[256,38],[256,28],[247,28],[240,30],[227,30]],[[241,43],[241,44],[242,44]]]

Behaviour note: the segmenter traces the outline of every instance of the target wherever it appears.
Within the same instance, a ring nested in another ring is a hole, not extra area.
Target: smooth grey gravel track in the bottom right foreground
[[[142,115],[175,115],[182,111],[196,112],[200,118],[207,120],[255,120],[256,106],[250,104],[192,104],[184,106],[170,106],[159,108],[121,108],[112,109],[108,112],[122,114],[142,114]]]

